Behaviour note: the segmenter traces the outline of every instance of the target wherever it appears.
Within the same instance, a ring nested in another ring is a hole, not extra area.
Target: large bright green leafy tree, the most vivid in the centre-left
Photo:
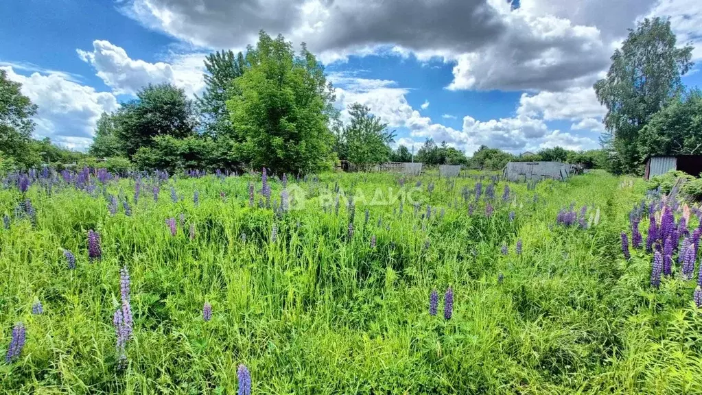
[[[329,166],[336,110],[324,68],[302,45],[295,55],[282,35],[260,32],[246,53],[246,71],[227,101],[237,149],[251,166],[314,172]]]

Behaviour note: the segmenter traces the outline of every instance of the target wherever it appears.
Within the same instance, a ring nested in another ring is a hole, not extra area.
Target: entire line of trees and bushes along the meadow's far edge
[[[348,121],[341,121],[334,88],[305,43],[296,53],[282,35],[272,38],[263,31],[243,53],[206,57],[200,96],[188,98],[168,83],[148,85],[116,112],[102,114],[87,155],[32,140],[37,107],[20,93],[19,83],[0,72],[0,167],[82,161],[114,170],[266,166],[312,173],[338,160],[362,170],[386,161],[498,169],[508,161],[543,160],[637,173],[649,155],[702,152],[702,93],[686,91],[681,82],[690,58],[691,46],[676,46],[670,22],[640,22],[594,86],[608,109],[602,149],[555,147],[529,156],[482,146],[468,157],[431,139],[416,153],[402,145],[393,150],[395,130],[369,107],[354,103],[347,108]]]

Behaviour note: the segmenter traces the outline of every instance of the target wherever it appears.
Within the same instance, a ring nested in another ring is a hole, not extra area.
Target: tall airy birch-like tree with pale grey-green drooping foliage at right
[[[640,170],[640,130],[682,92],[680,76],[692,66],[691,51],[691,46],[676,46],[670,21],[654,18],[630,29],[614,52],[607,76],[595,83],[597,99],[607,107],[602,144],[611,156],[611,170]]]

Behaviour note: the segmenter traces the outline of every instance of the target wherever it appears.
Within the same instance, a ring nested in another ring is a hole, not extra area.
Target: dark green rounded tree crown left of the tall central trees
[[[193,135],[197,111],[183,89],[169,83],[150,84],[137,93],[135,100],[122,105],[114,122],[121,149],[132,157],[140,147],[150,147],[159,135]]]

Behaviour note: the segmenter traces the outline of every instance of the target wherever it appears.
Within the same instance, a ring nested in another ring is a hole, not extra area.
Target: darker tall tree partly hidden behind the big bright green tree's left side
[[[232,135],[232,121],[227,112],[227,99],[234,88],[234,80],[244,74],[244,54],[217,51],[205,58],[205,89],[197,105],[200,109],[204,133],[211,136]]]

